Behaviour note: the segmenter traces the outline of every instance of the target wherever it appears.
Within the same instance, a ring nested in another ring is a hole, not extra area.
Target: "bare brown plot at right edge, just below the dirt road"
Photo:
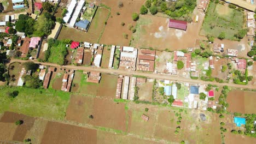
[[[256,92],[231,91],[226,101],[229,104],[228,111],[240,113],[255,113]]]

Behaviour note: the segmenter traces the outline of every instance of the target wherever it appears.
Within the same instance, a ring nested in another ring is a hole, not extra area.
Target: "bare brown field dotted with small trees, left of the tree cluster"
[[[102,4],[107,5],[111,9],[111,15],[100,39],[101,44],[121,46],[129,45],[129,41],[132,36],[129,26],[135,27],[136,25],[136,22],[132,20],[132,13],[139,13],[139,9],[145,0],[126,0],[122,2],[124,6],[119,8],[118,1],[101,1]],[[117,13],[120,15],[117,15]],[[125,23],[125,26],[121,25],[122,22]],[[124,33],[128,34],[127,39],[124,38]]]

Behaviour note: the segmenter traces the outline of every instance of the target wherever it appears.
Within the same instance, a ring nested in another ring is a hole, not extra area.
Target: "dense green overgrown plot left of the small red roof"
[[[50,63],[65,64],[65,57],[68,54],[66,44],[70,41],[49,39],[48,50],[45,52],[45,61]]]

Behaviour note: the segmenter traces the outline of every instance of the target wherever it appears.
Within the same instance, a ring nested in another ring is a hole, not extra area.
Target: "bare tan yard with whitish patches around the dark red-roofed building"
[[[169,19],[164,17],[140,15],[131,46],[171,51],[195,46],[200,22],[188,23],[187,31],[168,28],[168,22]]]

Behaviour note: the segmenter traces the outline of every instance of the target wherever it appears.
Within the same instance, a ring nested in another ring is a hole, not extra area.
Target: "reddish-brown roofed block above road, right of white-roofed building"
[[[141,50],[138,54],[137,70],[154,71],[155,50]]]

